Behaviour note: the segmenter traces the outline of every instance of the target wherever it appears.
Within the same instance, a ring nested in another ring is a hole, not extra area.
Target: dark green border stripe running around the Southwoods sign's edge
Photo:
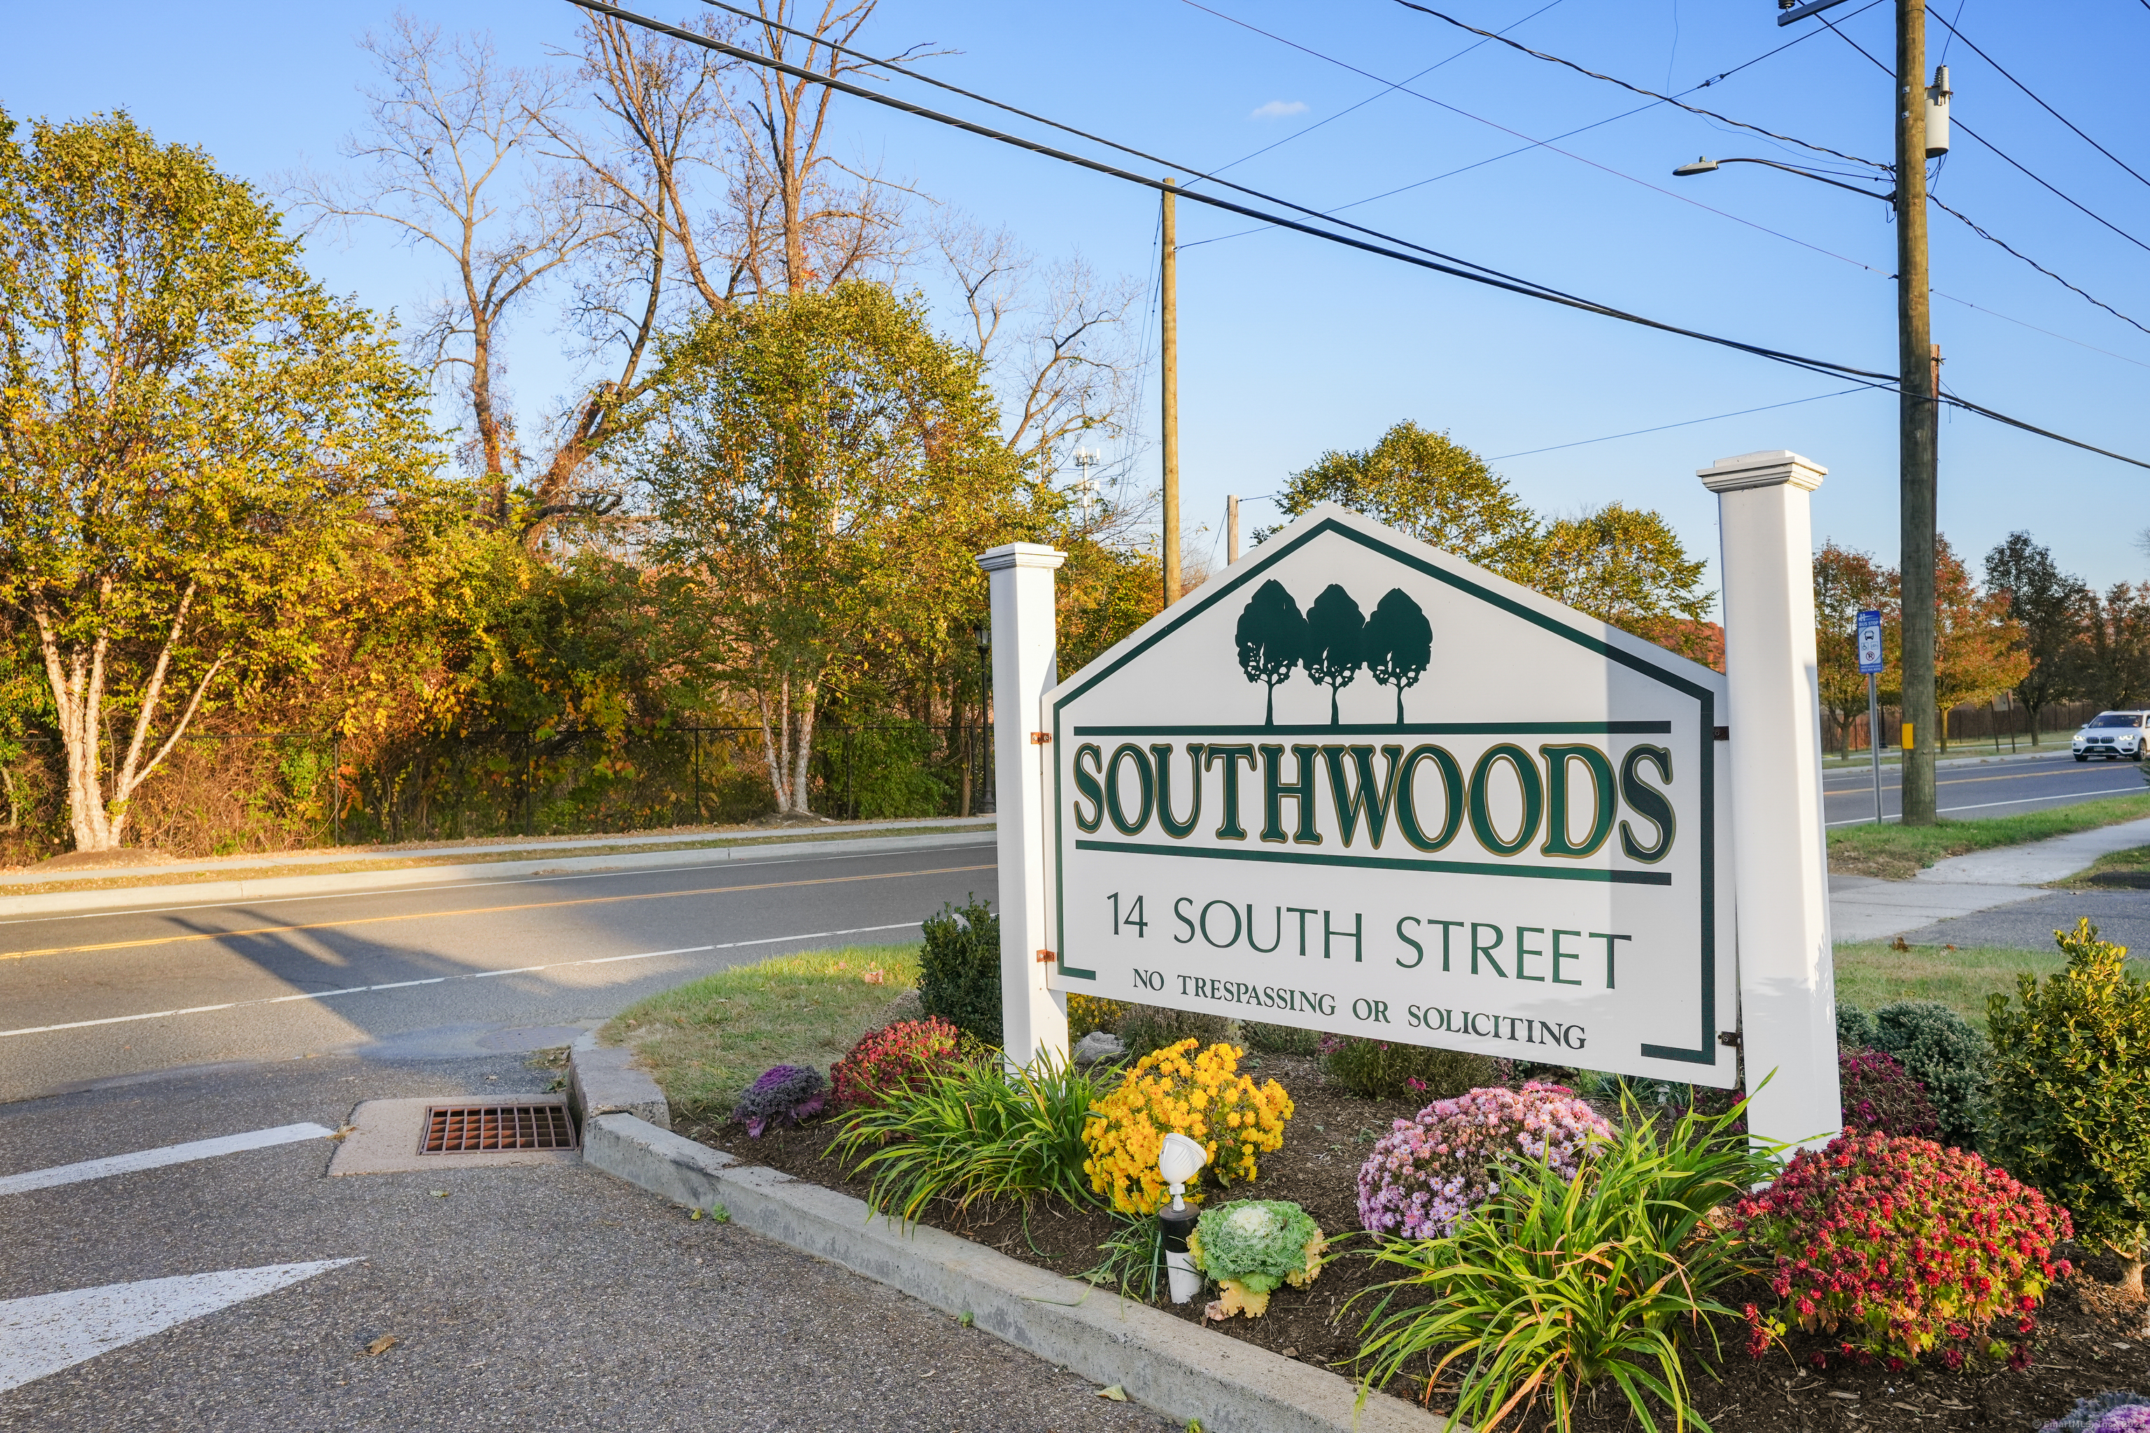
[[[1299,537],[1294,537],[1294,539],[1290,539],[1286,544],[1266,544],[1260,550],[1262,552],[1260,556],[1253,556],[1253,559],[1249,559],[1249,561],[1238,563],[1236,567],[1232,567],[1232,576],[1230,578],[1226,578],[1221,582],[1206,582],[1202,587],[1202,593],[1198,597],[1189,597],[1189,599],[1180,602],[1176,608],[1172,608],[1172,621],[1167,621],[1163,627],[1159,627],[1157,632],[1152,632],[1150,636],[1146,636],[1142,642],[1135,642],[1133,647],[1129,647],[1109,666],[1099,666],[1096,672],[1090,672],[1090,668],[1084,668],[1086,677],[1084,677],[1081,685],[1073,687],[1071,692],[1066,692],[1064,696],[1060,696],[1054,703],[1054,743],[1058,746],[1064,739],[1062,715],[1060,713],[1062,713],[1062,709],[1071,700],[1079,698],[1084,692],[1088,692],[1096,683],[1101,683],[1107,677],[1112,677],[1114,672],[1118,672],[1122,666],[1127,666],[1129,662],[1133,662],[1135,657],[1140,657],[1142,653],[1146,653],[1150,647],[1155,647],[1163,638],[1167,638],[1174,632],[1178,632],[1182,625],[1187,625],[1189,621],[1193,621],[1202,612],[1208,612],[1219,602],[1226,602],[1228,597],[1232,597],[1234,593],[1238,593],[1249,582],[1260,580],[1264,571],[1268,571],[1271,567],[1275,567],[1277,563],[1281,563],[1286,556],[1290,556],[1299,548],[1307,546],[1309,541],[1314,541],[1316,537],[1322,537],[1327,533],[1335,533],[1337,537],[1342,537],[1346,541],[1359,544],[1361,548],[1367,548],[1372,552],[1380,552],[1380,554],[1385,554],[1389,559],[1395,559],[1404,567],[1410,567],[1413,571],[1421,571],[1428,578],[1432,578],[1434,582],[1443,582],[1445,587],[1453,587],[1460,593],[1468,593],[1471,597],[1477,597],[1486,606],[1499,608],[1499,610],[1507,612],[1509,617],[1522,619],[1522,621],[1531,623],[1533,627],[1542,627],[1544,632],[1561,636],[1561,638],[1574,642],[1576,647],[1582,647],[1585,651],[1593,651],[1600,657],[1604,657],[1606,662],[1617,662],[1619,666],[1625,666],[1625,668],[1630,668],[1634,672],[1640,672],[1643,677],[1649,677],[1651,681],[1658,681],[1658,683],[1662,683],[1666,687],[1673,687],[1675,692],[1679,692],[1683,696],[1692,696],[1694,698],[1694,703],[1698,707],[1698,711],[1696,711],[1696,739],[1698,739],[1696,758],[1698,758],[1698,771],[1701,771],[1701,806],[1703,806],[1703,831],[1701,831],[1703,879],[1701,879],[1701,892],[1698,892],[1698,898],[1701,898],[1698,900],[1698,904],[1701,904],[1701,939],[1696,941],[1696,945],[1701,947],[1701,971],[1698,971],[1698,978],[1701,978],[1698,984],[1701,984],[1701,997],[1703,997],[1701,999],[1701,1003],[1703,1003],[1703,1010],[1701,1010],[1701,1031],[1696,1036],[1694,1048],[1666,1046],[1666,1044],[1645,1044],[1640,1048],[1640,1053],[1643,1053],[1645,1059],[1666,1059],[1666,1061],[1677,1061],[1677,1063],[1688,1063],[1688,1066],[1711,1066],[1711,1068],[1716,1068],[1716,1063],[1718,1063],[1718,1031],[1716,1031],[1716,1025],[1718,1025],[1718,879],[1716,879],[1718,877],[1718,761],[1716,761],[1716,711],[1718,711],[1718,694],[1711,692],[1709,687],[1701,685],[1701,683],[1688,681],[1686,677],[1679,677],[1677,672],[1671,672],[1671,670],[1658,666],[1656,662],[1649,662],[1647,657],[1638,657],[1634,653],[1621,651],[1619,647],[1606,642],[1604,638],[1591,636],[1587,632],[1576,632],[1567,623],[1557,621],[1552,617],[1546,617],[1544,612],[1533,612],[1529,606],[1516,602],[1514,597],[1503,597],[1501,593],[1490,591],[1490,589],[1473,582],[1471,578],[1466,578],[1462,574],[1453,574],[1453,571],[1447,571],[1445,567],[1428,563],[1425,559],[1417,556],[1415,552],[1404,552],[1404,550],[1400,550],[1400,548],[1395,548],[1395,546],[1391,546],[1387,541],[1380,541],[1378,537],[1370,537],[1367,533],[1359,533],[1357,529],[1352,529],[1352,526],[1348,526],[1344,522],[1337,522],[1335,518],[1322,518],[1320,522],[1316,522],[1314,526],[1309,526],[1305,533],[1301,533]],[[1475,724],[1464,724],[1464,726],[1475,726]],[[1520,724],[1520,722],[1518,724],[1494,724],[1494,722],[1488,722],[1484,726],[1486,726],[1486,733],[1494,733],[1494,730],[1529,730],[1529,726]],[[1557,726],[1557,724],[1548,724],[1548,726]],[[1600,730],[1612,728],[1612,726],[1615,724],[1610,724],[1610,722],[1595,724],[1595,728],[1600,728]],[[1651,726],[1656,726],[1658,730],[1664,728],[1660,724],[1651,724]],[[1090,730],[1090,728],[1084,728],[1084,730]],[[1161,728],[1161,726],[1140,726],[1140,728],[1131,728],[1131,730],[1137,733],[1137,735],[1170,735],[1170,728]],[[1219,730],[1219,728],[1215,728],[1215,726],[1189,728],[1187,735],[1195,735],[1198,730]],[[1249,730],[1253,730],[1253,728],[1249,728]],[[1260,730],[1279,730],[1279,728],[1264,726]],[[1292,728],[1284,728],[1284,730],[1292,730]],[[1348,728],[1339,728],[1339,726],[1309,726],[1305,730],[1307,733],[1316,733],[1316,730],[1339,733],[1339,730],[1348,730]],[[1374,730],[1391,730],[1393,733],[1393,730],[1400,730],[1400,728],[1387,726],[1387,728],[1374,728]],[[1054,761],[1054,851],[1056,853],[1066,849],[1064,846],[1064,827],[1066,827],[1066,801],[1062,799],[1062,793],[1060,793],[1060,763]],[[1081,849],[1081,844],[1077,844],[1077,849]],[[1195,853],[1189,851],[1185,855],[1195,855]],[[1213,855],[1213,853],[1202,853],[1202,855]],[[1305,862],[1305,857],[1299,857],[1299,859]],[[1079,971],[1079,969],[1075,969],[1075,967],[1071,967],[1066,962],[1066,892],[1062,889],[1062,879],[1064,877],[1062,877],[1062,870],[1060,870],[1060,862],[1056,859],[1054,862],[1054,907],[1056,907],[1054,917],[1056,917],[1056,924],[1058,924],[1056,943],[1060,947],[1058,954],[1056,954],[1058,971],[1062,975],[1073,978],[1073,980],[1096,980],[1096,971]]]

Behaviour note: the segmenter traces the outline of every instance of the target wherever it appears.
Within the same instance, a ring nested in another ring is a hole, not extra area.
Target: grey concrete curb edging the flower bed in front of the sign
[[[580,1059],[580,1053],[576,1053]],[[1118,1384],[1129,1399],[1208,1433],[1434,1433],[1445,1422],[1335,1373],[1258,1349],[1103,1289],[1058,1278],[940,1229],[909,1231],[864,1203],[787,1173],[742,1167],[722,1149],[634,1115],[583,1128],[583,1162],[697,1210],[725,1205],[768,1240],[843,1265],[1038,1358]]]

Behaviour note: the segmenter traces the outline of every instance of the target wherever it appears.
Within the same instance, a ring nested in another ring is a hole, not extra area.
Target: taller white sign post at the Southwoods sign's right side
[[[1698,473],[1724,541],[1742,1036],[1748,1081],[1772,1076],[1748,1128],[1804,1143],[1843,1124],[1808,513],[1825,473],[1784,451]]]

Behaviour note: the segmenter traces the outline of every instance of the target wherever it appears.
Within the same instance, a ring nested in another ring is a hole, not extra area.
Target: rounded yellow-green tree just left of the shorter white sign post
[[[765,294],[666,346],[630,453],[649,552],[699,638],[684,660],[752,698],[780,810],[806,810],[826,687],[972,597],[972,556],[1021,533],[998,428],[978,359],[882,284]]]

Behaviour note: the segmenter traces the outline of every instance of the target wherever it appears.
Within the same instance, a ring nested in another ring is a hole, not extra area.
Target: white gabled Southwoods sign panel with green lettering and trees
[[[1318,507],[1043,720],[1049,988],[1733,1085],[1718,672]]]

